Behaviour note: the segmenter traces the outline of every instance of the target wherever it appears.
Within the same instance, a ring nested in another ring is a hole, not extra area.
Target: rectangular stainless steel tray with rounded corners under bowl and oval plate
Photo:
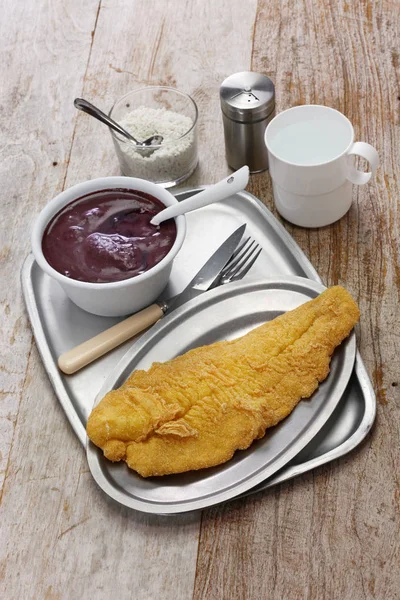
[[[196,191],[200,190],[180,193],[177,197],[182,200]],[[171,273],[171,295],[185,287],[220,242],[243,222],[264,250],[251,271],[252,279],[297,276],[320,282],[315,269],[284,227],[257,198],[242,192],[187,215],[187,237]],[[41,271],[31,255],[24,263],[21,281],[44,367],[73,430],[85,445],[85,424],[94,399],[132,343],[127,342],[75,375],[63,375],[57,368],[58,356],[118,319],[97,317],[77,308],[59,285]],[[375,408],[375,395],[357,354],[347,389],[322,430],[289,464],[245,493],[285,481],[351,451],[371,428]]]

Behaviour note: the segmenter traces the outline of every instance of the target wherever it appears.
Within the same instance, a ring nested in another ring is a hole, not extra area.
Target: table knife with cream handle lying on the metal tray
[[[79,344],[79,346],[64,352],[58,359],[59,369],[68,375],[76,373],[97,358],[104,356],[110,350],[117,348],[138,333],[154,325],[167,312],[178,308],[178,306],[208,290],[235,252],[245,229],[245,224],[238,227],[219,246],[182,292],[169,299],[164,299],[161,296],[151,306],[124,319],[117,325]]]

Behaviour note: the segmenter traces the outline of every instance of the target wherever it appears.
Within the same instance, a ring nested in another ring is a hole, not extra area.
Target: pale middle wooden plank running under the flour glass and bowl
[[[174,85],[191,93],[200,109],[201,164],[192,181],[222,177],[228,167],[218,88],[226,75],[249,64],[256,3],[250,8],[186,2],[177,21],[175,3],[102,1],[83,90],[64,89],[68,110],[75,110],[77,95],[108,109],[137,85]],[[228,53],[234,22],[241,23],[241,43]],[[83,114],[76,114],[76,123],[63,184],[118,173],[106,128]],[[199,515],[146,517],[107,501],[87,471],[34,346],[19,390],[1,507],[6,597],[108,599],[118,591],[135,600],[191,598]]]

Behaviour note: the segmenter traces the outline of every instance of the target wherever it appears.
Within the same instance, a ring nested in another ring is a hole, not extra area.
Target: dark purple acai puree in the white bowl
[[[59,273],[109,283],[148,271],[176,239],[173,219],[151,219],[165,206],[150,194],[127,189],[93,192],[60,210],[47,225],[42,250]]]

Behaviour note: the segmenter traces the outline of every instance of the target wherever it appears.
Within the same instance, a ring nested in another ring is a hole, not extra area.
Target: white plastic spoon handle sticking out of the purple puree
[[[191,196],[187,200],[179,202],[179,204],[168,206],[168,208],[165,208],[161,212],[157,213],[155,217],[152,218],[150,223],[152,225],[159,225],[167,219],[172,219],[172,217],[184,215],[185,213],[196,210],[197,208],[203,208],[203,206],[208,206],[208,204],[213,204],[214,202],[224,200],[225,198],[244,190],[248,184],[248,181],[249,167],[244,166],[238,171],[235,171],[235,173],[232,173],[232,175],[229,175],[229,177],[226,177],[215,185],[211,185],[209,188],[206,188],[203,192],[200,192],[195,196]]]

